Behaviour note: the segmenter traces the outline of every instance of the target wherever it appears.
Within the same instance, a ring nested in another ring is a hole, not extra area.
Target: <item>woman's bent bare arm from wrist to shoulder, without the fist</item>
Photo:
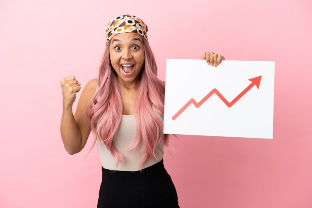
[[[90,80],[84,88],[78,101],[75,115],[72,111],[72,103],[64,99],[63,90],[63,114],[61,119],[61,137],[64,143],[64,148],[69,154],[80,152],[91,132],[90,121],[85,112],[87,104],[91,101],[95,94],[98,79]],[[78,91],[79,92],[79,91]],[[88,110],[92,106],[88,107]]]

